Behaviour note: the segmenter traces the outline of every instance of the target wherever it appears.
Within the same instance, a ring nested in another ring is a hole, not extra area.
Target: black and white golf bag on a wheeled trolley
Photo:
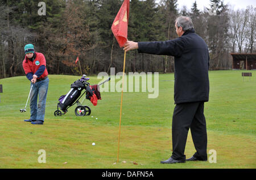
[[[97,100],[101,99],[99,86],[105,82],[108,82],[110,78],[106,81],[102,82],[100,85],[90,85],[89,81],[90,78],[86,78],[84,74],[81,79],[78,79],[74,83],[71,84],[71,90],[66,95],[61,95],[59,98],[59,103],[57,103],[57,110],[54,112],[55,116],[61,116],[68,112],[68,108],[77,104],[75,108],[76,116],[89,116],[91,113],[89,106],[83,106],[82,103],[84,102],[85,98],[89,99],[94,106],[97,105]],[[85,90],[82,93],[82,90]],[[80,98],[86,94],[82,102],[80,103]],[[62,113],[63,111],[64,113]]]

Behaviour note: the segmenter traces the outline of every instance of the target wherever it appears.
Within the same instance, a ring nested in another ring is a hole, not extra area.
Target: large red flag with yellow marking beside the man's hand
[[[118,41],[119,47],[123,47],[127,41],[129,6],[130,0],[124,0],[111,27],[115,39]]]

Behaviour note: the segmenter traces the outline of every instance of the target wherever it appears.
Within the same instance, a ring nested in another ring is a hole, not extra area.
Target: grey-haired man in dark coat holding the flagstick
[[[205,41],[193,30],[191,18],[179,16],[175,23],[179,36],[174,40],[127,41],[123,50],[174,56],[175,108],[172,116],[172,156],[162,164],[185,161],[207,161],[207,128],[204,102],[209,100],[209,52]],[[184,150],[191,128],[196,153],[185,159]]]

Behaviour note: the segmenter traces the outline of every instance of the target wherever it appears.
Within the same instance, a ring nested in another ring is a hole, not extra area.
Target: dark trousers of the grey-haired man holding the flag
[[[207,160],[207,128],[204,117],[204,102],[176,104],[172,116],[172,158],[185,161],[185,145],[188,129],[191,129],[199,160]]]

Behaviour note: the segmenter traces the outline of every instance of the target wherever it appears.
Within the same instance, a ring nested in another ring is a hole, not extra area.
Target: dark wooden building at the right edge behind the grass
[[[256,53],[230,53],[232,69],[256,70]]]

